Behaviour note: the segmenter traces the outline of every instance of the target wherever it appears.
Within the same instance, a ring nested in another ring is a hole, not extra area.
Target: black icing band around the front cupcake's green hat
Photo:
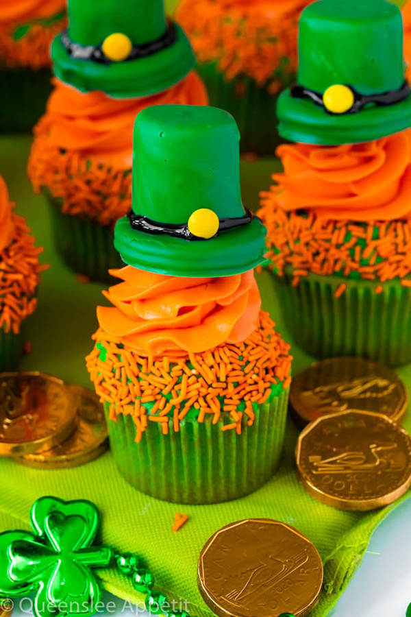
[[[212,213],[212,210],[195,210],[195,212],[192,213],[190,219],[192,219],[193,215],[201,212]],[[199,235],[193,234],[190,231],[190,219],[188,220],[188,223],[159,223],[158,221],[153,221],[152,219],[149,219],[148,217],[145,217],[143,215],[136,215],[133,210],[129,210],[127,216],[129,217],[132,229],[138,230],[140,232],[145,232],[147,234],[171,236],[174,238],[181,238],[190,241],[206,240],[210,237],[201,237]],[[242,217],[236,217],[232,219],[218,219],[218,217],[216,217],[216,232],[212,235],[212,237],[218,236],[220,232],[248,225],[249,223],[251,223],[251,219],[253,219],[253,214],[249,210],[246,210],[245,215]]]

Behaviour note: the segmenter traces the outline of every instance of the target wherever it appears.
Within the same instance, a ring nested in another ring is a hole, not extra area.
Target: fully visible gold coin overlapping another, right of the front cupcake
[[[372,510],[411,486],[411,437],[384,415],[351,410],[306,426],[297,441],[303,487],[342,510]]]

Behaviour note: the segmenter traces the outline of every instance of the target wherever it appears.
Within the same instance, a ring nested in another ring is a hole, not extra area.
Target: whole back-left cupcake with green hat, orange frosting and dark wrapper
[[[53,41],[56,78],[34,129],[29,177],[50,202],[56,250],[75,272],[110,280],[113,228],[131,206],[132,133],[152,105],[208,104],[182,29],[163,0],[69,0]]]

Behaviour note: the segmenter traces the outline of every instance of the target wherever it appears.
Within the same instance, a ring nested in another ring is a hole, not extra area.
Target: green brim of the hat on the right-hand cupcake
[[[327,114],[307,99],[285,90],[278,99],[279,134],[300,143],[342,145],[362,143],[398,133],[411,126],[411,95],[390,106],[368,106],[357,114]]]

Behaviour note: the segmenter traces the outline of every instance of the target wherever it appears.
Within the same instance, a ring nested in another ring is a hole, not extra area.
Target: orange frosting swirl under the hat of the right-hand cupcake
[[[411,211],[411,130],[354,145],[281,145],[264,201],[332,220],[392,221]]]

